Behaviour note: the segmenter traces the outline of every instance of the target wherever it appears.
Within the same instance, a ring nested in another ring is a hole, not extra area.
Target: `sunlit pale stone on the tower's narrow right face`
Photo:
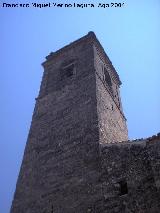
[[[103,80],[104,73],[102,73],[102,66],[106,63],[104,62],[104,59],[100,58],[96,47],[94,47],[94,57],[100,143],[111,143],[128,140],[126,119],[124,117],[121,105],[117,106],[117,102],[110,94],[107,83]],[[110,73],[110,75],[111,74],[112,73]],[[114,81],[112,81],[112,84],[112,87],[116,86]],[[118,83],[117,87],[119,87]]]

